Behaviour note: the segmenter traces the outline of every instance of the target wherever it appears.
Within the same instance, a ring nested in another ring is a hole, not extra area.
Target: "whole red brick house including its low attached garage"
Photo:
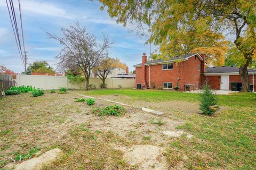
[[[209,79],[212,89],[230,90],[230,82],[241,82],[238,68],[235,67],[207,67],[205,68],[205,55],[199,53],[172,57],[171,60],[147,61],[145,53],[142,55],[142,63],[134,65],[136,74],[136,87],[152,88],[152,84],[158,88],[173,89],[179,83],[179,90],[187,90],[192,87],[200,89],[205,78]],[[254,74],[256,70],[248,70],[250,83],[256,89]],[[221,81],[222,80],[222,81]],[[222,85],[220,85],[222,82]],[[224,83],[224,85],[223,85]],[[227,85],[228,84],[228,85]]]

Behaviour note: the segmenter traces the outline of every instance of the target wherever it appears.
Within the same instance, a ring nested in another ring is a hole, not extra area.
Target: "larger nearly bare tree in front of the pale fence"
[[[88,90],[92,69],[107,57],[107,49],[113,43],[103,35],[103,43],[97,44],[95,36],[87,33],[78,22],[74,26],[61,28],[61,36],[46,33],[49,38],[58,40],[62,45],[61,52],[56,57],[59,60],[59,69],[68,70],[70,67],[78,67],[84,74],[85,89]]]

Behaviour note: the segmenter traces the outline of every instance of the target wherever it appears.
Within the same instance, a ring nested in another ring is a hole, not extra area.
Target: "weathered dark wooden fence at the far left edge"
[[[4,96],[4,92],[13,87],[14,83],[12,75],[0,73],[0,97]]]

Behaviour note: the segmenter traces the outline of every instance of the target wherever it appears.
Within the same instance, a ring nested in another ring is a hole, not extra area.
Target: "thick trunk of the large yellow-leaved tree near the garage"
[[[239,75],[240,75],[241,80],[242,80],[242,89],[240,90],[240,92],[251,92],[250,82],[249,82],[249,75],[248,75],[248,72],[247,72],[248,65],[249,65],[249,63],[246,62],[246,64],[239,67]]]

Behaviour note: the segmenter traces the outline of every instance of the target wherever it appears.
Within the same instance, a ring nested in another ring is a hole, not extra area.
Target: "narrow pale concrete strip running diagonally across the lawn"
[[[123,106],[127,106],[127,107],[133,107],[133,108],[136,108],[136,109],[141,109],[144,112],[152,113],[152,114],[155,114],[155,115],[158,115],[158,116],[161,116],[162,114],[164,114],[163,112],[154,111],[152,109],[145,108],[145,107],[136,107],[136,106],[127,105],[127,104],[124,104],[124,103],[121,103],[121,102],[118,102],[118,101],[113,101],[113,100],[108,100],[108,99],[103,99],[103,98],[97,98],[97,97],[81,95],[81,94],[77,94],[76,92],[71,92],[71,91],[67,91],[67,92],[70,92],[71,94],[79,95],[79,96],[82,96],[82,97],[85,97],[85,98],[93,98],[93,99],[105,100],[105,101],[108,101],[108,102],[111,102],[111,103],[115,103],[115,104],[118,104],[118,105],[123,105]]]

